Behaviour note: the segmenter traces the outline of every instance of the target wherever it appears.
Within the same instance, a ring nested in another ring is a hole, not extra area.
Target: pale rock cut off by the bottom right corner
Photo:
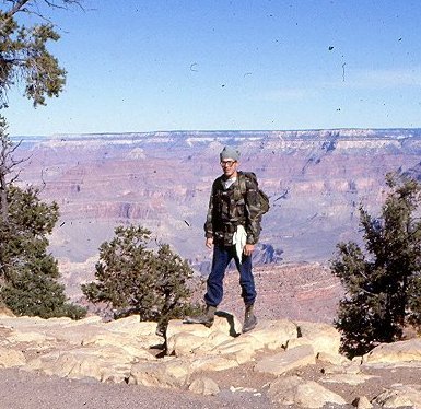
[[[421,385],[396,385],[375,398],[375,402],[383,408],[398,408],[400,406],[421,409]]]

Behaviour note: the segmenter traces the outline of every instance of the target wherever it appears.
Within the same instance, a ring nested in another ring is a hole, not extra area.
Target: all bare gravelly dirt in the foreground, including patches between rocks
[[[1,409],[135,409],[135,408],[279,408],[267,397],[267,384],[273,377],[256,374],[253,365],[212,374],[221,385],[218,396],[202,396],[187,390],[163,389],[141,385],[101,383],[93,379],[67,379],[20,371],[0,371]],[[318,381],[320,365],[294,371],[305,379]],[[373,370],[376,377],[362,385],[331,384],[329,389],[352,401],[358,396],[369,400],[395,384],[420,384],[421,367],[396,367]],[[294,406],[285,406],[285,408]],[[327,405],[327,408],[339,407]],[[352,408],[351,405],[342,408]],[[408,406],[410,407],[410,406]],[[374,408],[381,408],[374,405]]]

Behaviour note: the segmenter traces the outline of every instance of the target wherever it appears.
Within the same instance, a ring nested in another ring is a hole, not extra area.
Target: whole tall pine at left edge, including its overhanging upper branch
[[[8,0],[0,4],[0,108],[9,107],[8,93],[24,85],[34,106],[58,96],[66,71],[48,51],[59,39],[55,25],[42,14],[42,3],[55,8],[79,4],[79,0]],[[0,303],[23,315],[71,316],[84,308],[66,303],[63,287],[57,283],[57,262],[47,255],[46,235],[57,221],[57,204],[39,201],[38,191],[13,186],[13,145],[0,116]],[[15,201],[16,200],[16,201]],[[32,208],[34,206],[34,208]]]

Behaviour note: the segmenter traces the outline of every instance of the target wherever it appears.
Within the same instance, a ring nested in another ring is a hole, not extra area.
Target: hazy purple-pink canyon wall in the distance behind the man
[[[23,183],[44,185],[61,219],[52,250],[71,262],[96,254],[119,223],[150,227],[199,269],[202,225],[224,144],[242,152],[271,198],[261,261],[327,260],[358,237],[358,206],[378,208],[389,171],[418,175],[420,129],[175,131],[23,138]]]

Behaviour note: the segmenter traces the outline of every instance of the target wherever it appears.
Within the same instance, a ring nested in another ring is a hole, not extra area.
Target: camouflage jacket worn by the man
[[[242,195],[239,177],[241,172],[227,189],[223,185],[224,175],[213,182],[204,232],[206,237],[213,237],[215,244],[231,246],[238,224],[246,230],[247,244],[256,244],[259,239],[261,213],[257,183],[245,177],[246,192]]]

